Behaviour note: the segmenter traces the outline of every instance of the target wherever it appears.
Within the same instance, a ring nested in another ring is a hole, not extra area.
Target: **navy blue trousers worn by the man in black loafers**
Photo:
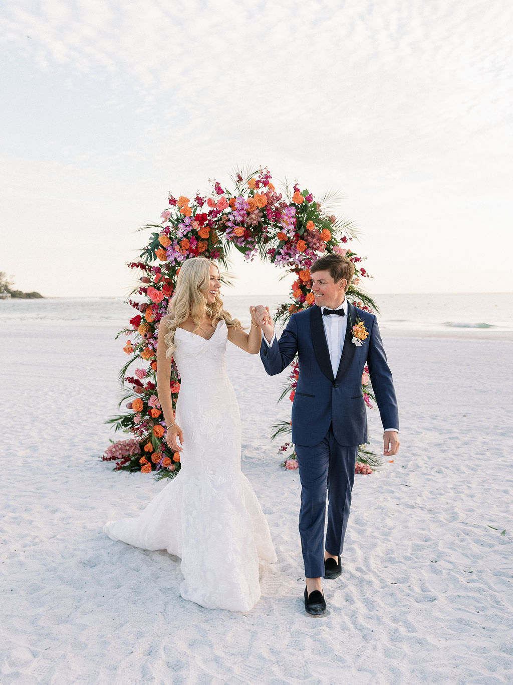
[[[330,426],[319,445],[295,445],[295,453],[301,480],[299,530],[304,575],[307,578],[319,578],[324,576],[324,549],[334,555],[342,553],[358,445],[339,445]],[[326,493],[328,527],[324,543]]]

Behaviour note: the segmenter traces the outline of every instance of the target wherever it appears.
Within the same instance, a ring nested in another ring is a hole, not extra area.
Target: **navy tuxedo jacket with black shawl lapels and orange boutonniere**
[[[330,424],[339,445],[350,447],[367,442],[367,412],[362,393],[365,364],[369,367],[383,427],[399,429],[392,373],[376,316],[349,303],[347,313],[337,377],[333,377],[320,307],[292,314],[280,340],[275,339],[270,347],[262,340],[260,356],[269,375],[281,373],[298,354],[298,387],[292,405],[292,440],[296,445],[317,445],[328,433]],[[369,333],[361,347],[352,342],[351,327],[356,317],[363,320]]]

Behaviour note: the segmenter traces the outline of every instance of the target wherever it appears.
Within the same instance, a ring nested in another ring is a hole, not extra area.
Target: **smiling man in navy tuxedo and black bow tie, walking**
[[[299,530],[306,580],[304,607],[318,615],[326,612],[321,577],[341,574],[358,445],[367,442],[362,393],[365,364],[384,427],[385,456],[399,449],[399,415],[376,316],[345,299],[354,276],[352,262],[330,254],[315,261],[310,271],[315,306],[292,314],[280,340],[276,340],[267,308],[257,307],[256,314],[264,334],[260,356],[269,375],[281,373],[299,356],[292,440],[302,488]]]

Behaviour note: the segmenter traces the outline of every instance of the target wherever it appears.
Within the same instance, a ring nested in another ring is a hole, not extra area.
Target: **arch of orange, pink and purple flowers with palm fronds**
[[[246,260],[259,255],[265,262],[285,269],[293,283],[289,300],[278,307],[275,320],[286,323],[291,314],[313,305],[313,262],[323,254],[337,252],[355,266],[347,298],[365,310],[375,308],[359,288],[361,279],[369,274],[361,265],[365,258],[358,257],[350,246],[352,224],[328,214],[329,196],[317,201],[308,190],[300,190],[297,183],[278,192],[265,168],[236,173],[232,181],[233,191],[213,182],[209,197],[196,193],[193,199],[176,198],[170,193],[169,208],[161,213],[162,223],[144,227],[154,229],[153,233],[140,261],[129,264],[131,269],[137,269],[139,282],[131,294],[134,299],[128,300],[137,313],[129,327],[118,334],[129,337],[123,348],[129,359],[120,373],[124,388],[120,406],[126,410],[107,423],[133,437],[111,442],[105,451],[103,460],[115,461],[115,470],[159,471],[158,477],[173,477],[180,470],[179,454],[170,451],[164,438],[166,423],[157,397],[157,329],[167,314],[177,273],[186,259],[201,255],[226,266],[228,253],[235,248]],[[129,372],[131,366],[133,371]],[[293,362],[280,399],[288,395],[293,400],[297,379],[298,365]],[[362,383],[365,401],[371,408],[374,398],[367,373]],[[180,390],[174,362],[171,390],[174,409]],[[273,428],[275,438],[289,432],[290,423],[284,421]],[[282,465],[297,466],[292,443],[285,443],[278,452],[284,458]],[[363,473],[369,473],[368,464],[375,463],[372,453],[363,446],[358,461],[361,465],[357,470]]]

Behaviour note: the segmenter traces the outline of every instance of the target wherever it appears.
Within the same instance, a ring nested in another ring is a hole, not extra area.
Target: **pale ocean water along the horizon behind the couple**
[[[449,293],[446,295],[376,295],[384,330],[513,332],[513,293]],[[224,306],[247,325],[249,308],[265,304],[273,312],[287,301],[281,295],[226,295]],[[0,299],[0,325],[9,321],[94,321],[127,325],[134,310],[122,297],[55,297]]]

